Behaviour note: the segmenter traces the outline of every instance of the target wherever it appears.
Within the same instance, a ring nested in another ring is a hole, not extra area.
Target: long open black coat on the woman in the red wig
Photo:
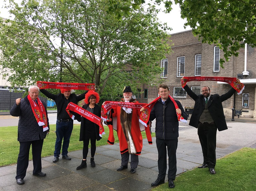
[[[82,108],[86,109],[87,105],[83,105]],[[93,114],[100,117],[101,116],[101,107],[98,106],[97,104],[95,104],[94,109],[93,109]],[[85,122],[86,122],[86,118],[82,117],[81,120],[81,126],[80,126],[80,138],[79,141],[83,141],[84,140],[84,126],[85,126]],[[96,132],[96,139],[97,141],[99,141],[102,137],[99,136],[99,126],[95,123],[94,124],[94,128],[95,128],[95,132]]]

